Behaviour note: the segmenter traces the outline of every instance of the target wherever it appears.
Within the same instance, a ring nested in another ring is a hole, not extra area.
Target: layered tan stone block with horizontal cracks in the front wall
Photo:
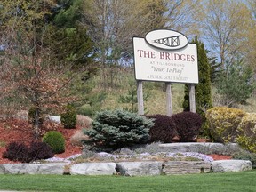
[[[163,174],[189,174],[211,171],[211,163],[194,161],[170,161],[163,163]]]

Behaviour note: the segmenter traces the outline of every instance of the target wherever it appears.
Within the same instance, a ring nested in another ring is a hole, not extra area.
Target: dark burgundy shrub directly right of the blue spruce
[[[175,124],[170,116],[152,115],[147,116],[154,119],[154,126],[150,128],[150,141],[171,142],[177,135]]]

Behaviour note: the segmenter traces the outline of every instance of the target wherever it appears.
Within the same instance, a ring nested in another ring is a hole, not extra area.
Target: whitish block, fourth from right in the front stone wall
[[[70,167],[71,175],[113,175],[116,173],[115,163],[84,163],[73,164]]]

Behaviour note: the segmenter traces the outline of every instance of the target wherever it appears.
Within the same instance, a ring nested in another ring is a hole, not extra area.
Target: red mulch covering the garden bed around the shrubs
[[[70,137],[76,132],[80,127],[76,127],[76,129],[64,129],[61,124],[53,124],[46,123],[44,124],[44,131],[41,132],[42,135],[44,132],[55,130],[61,132],[66,139],[66,148],[65,152],[59,155],[55,155],[58,157],[68,157],[75,154],[80,154],[82,148],[73,146],[70,143]],[[3,153],[6,150],[5,147],[8,143],[12,141],[26,142],[29,143],[34,140],[34,134],[32,125],[28,124],[25,120],[12,119],[5,122],[0,122],[0,164],[8,164],[8,163],[19,163],[12,162],[6,158],[3,158]],[[220,156],[220,155],[210,155],[214,160],[224,160],[231,159],[231,156]]]

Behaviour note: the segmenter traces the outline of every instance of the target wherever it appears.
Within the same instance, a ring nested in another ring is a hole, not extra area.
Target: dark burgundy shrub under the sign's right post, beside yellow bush
[[[176,130],[180,141],[194,141],[202,125],[202,118],[199,114],[192,112],[181,112],[172,115],[176,124]]]

